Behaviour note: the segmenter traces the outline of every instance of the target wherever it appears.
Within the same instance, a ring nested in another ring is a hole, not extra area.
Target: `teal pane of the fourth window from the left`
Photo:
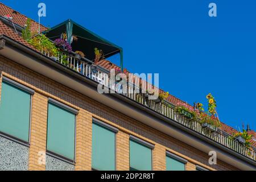
[[[143,144],[130,140],[130,170],[151,171],[152,150]]]

